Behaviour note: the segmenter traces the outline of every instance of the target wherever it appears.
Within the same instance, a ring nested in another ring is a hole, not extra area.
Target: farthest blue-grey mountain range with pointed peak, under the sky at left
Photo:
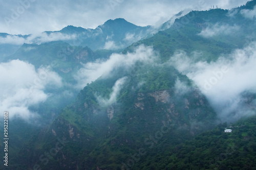
[[[0,33],[2,57],[13,54],[23,43],[41,44],[61,40],[70,45],[88,46],[92,50],[118,50],[131,45],[153,30],[151,26],[139,27],[123,18],[108,20],[96,29],[68,26],[60,31],[46,31],[38,35],[10,35]]]

